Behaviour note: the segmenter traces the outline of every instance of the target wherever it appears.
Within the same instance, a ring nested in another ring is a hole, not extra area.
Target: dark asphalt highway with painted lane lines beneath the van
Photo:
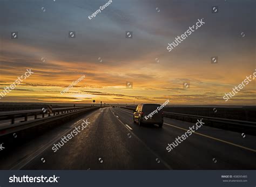
[[[164,118],[157,125],[139,127],[132,111],[101,108],[81,115],[23,146],[6,153],[1,169],[255,169],[256,137],[203,126],[176,148],[167,152],[168,143],[183,135],[194,123]],[[60,142],[83,120],[90,122],[56,152]],[[2,154],[0,152],[0,154]]]

